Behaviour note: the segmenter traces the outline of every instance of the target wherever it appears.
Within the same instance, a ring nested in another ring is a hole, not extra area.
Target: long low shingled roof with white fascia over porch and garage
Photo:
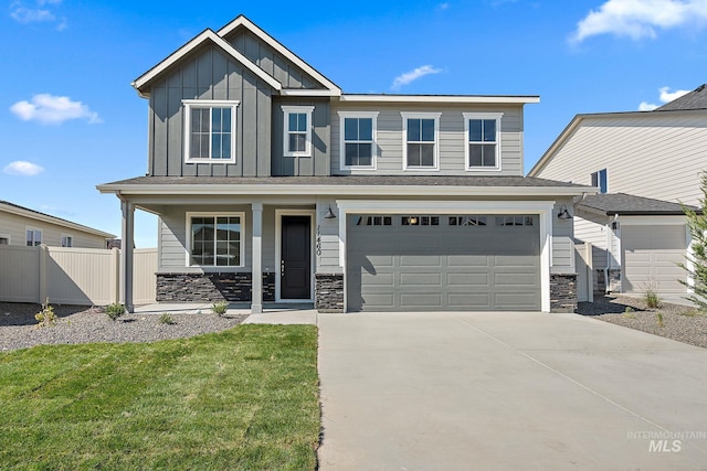
[[[103,193],[124,194],[454,194],[580,195],[592,186],[528,176],[138,176],[98,185]],[[420,191],[422,193],[414,193]]]

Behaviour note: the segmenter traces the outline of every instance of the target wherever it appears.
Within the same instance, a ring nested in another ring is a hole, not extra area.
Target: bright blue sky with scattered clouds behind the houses
[[[117,199],[95,185],[146,171],[130,82],[240,13],[346,93],[540,95],[526,171],[578,113],[650,109],[707,82],[707,0],[0,4],[0,200],[116,235]],[[136,224],[137,246],[155,246],[156,220]]]

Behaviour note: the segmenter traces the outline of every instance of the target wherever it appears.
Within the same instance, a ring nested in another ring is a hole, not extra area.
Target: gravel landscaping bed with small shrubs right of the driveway
[[[707,349],[707,313],[687,306],[662,302],[650,309],[640,298],[594,296],[594,302],[580,302],[577,312]]]

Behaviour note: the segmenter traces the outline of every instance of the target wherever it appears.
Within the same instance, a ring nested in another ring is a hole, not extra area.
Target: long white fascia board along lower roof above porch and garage
[[[192,195],[367,195],[367,196],[579,196],[587,190],[572,186],[431,186],[431,185],[98,185],[102,193],[119,193],[123,195],[148,194],[192,194]]]

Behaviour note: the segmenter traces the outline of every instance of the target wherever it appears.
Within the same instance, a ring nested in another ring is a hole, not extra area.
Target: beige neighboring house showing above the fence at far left
[[[0,200],[0,245],[106,248],[113,234]]]

